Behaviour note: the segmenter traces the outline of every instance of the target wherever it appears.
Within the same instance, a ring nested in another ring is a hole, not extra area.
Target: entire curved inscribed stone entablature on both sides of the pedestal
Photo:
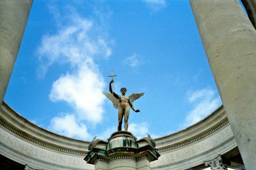
[[[83,158],[88,141],[42,129],[3,103],[0,117],[0,152],[34,169],[94,169]],[[223,106],[179,132],[156,138],[158,160],[152,169],[187,169],[237,147]]]

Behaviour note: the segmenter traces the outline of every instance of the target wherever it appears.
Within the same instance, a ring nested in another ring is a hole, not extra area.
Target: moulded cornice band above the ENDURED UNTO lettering
[[[41,148],[78,156],[85,156],[88,151],[89,142],[72,139],[40,128],[17,114],[4,102],[0,109],[0,125],[6,131]]]

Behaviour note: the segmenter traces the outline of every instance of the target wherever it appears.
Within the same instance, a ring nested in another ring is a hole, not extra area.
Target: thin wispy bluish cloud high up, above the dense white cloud
[[[53,63],[69,63],[79,66],[86,59],[97,55],[109,57],[109,44],[100,35],[95,35],[93,21],[74,13],[69,16],[68,26],[59,26],[56,34],[45,35],[37,49],[40,67],[38,76],[43,78]]]

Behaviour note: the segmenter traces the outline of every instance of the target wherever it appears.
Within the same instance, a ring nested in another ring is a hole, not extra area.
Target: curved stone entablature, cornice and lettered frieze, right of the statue
[[[182,131],[155,139],[161,156],[152,169],[187,169],[237,147],[223,107]]]

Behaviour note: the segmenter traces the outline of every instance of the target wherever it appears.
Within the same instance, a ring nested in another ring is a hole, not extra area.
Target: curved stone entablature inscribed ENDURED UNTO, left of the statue
[[[89,142],[42,129],[5,103],[0,112],[0,152],[3,156],[34,169],[94,169],[83,160]]]

